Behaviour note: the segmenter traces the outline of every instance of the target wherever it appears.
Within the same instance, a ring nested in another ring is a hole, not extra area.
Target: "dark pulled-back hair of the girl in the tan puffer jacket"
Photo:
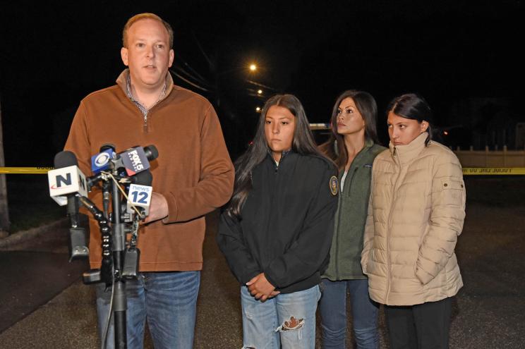
[[[416,93],[402,94],[401,96],[392,99],[388,104],[387,117],[390,111],[402,118],[416,120],[418,123],[426,121],[428,123],[428,128],[426,130],[428,136],[426,137],[425,145],[428,147],[428,142],[432,140],[433,113],[423,97]]]

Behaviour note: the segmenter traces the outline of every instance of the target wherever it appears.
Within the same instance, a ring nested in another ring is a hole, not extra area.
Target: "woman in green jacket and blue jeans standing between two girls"
[[[378,303],[368,297],[361,270],[370,176],[378,145],[378,107],[363,91],[349,90],[332,111],[332,136],[321,151],[339,167],[339,205],[335,216],[330,264],[322,276],[320,300],[323,348],[346,348],[346,293],[350,293],[357,348],[378,348]]]

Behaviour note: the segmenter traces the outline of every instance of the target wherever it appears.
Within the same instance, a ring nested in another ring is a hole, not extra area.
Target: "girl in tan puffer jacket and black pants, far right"
[[[431,140],[416,94],[387,108],[390,152],[375,158],[361,254],[370,298],[385,305],[390,348],[448,348],[452,296],[463,286],[454,247],[465,217],[461,165]]]

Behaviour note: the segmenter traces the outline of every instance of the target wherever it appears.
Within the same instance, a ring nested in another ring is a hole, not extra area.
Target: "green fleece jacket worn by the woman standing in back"
[[[339,188],[339,204],[335,214],[334,237],[330,249],[330,264],[323,278],[331,281],[363,279],[361,251],[365,231],[370,179],[375,157],[386,148],[367,140],[365,147],[356,155]],[[339,172],[339,183],[344,170]]]

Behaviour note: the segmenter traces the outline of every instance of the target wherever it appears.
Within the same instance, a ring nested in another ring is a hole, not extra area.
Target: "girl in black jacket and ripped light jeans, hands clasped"
[[[318,151],[301,102],[270,98],[253,145],[236,161],[217,234],[241,283],[244,348],[315,347],[337,188],[337,169]]]

